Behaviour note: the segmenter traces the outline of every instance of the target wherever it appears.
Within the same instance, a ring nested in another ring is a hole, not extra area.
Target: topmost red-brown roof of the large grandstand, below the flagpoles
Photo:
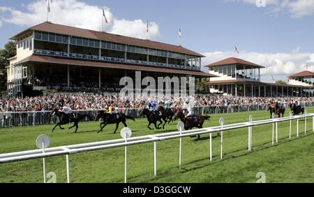
[[[53,24],[51,22],[43,22],[34,27],[30,27],[22,31],[21,33],[13,36],[12,40],[17,40],[23,34],[27,34],[29,31],[46,31],[54,34],[64,34],[68,36],[77,36],[82,38],[91,38],[101,41],[108,41],[113,43],[121,43],[127,45],[135,45],[144,48],[152,48],[157,50],[166,50],[170,52],[179,52],[183,54],[195,55],[198,57],[204,57],[202,54],[197,52],[193,52],[192,50],[188,50],[178,45],[169,45],[166,43],[159,43],[156,41],[148,41],[140,38],[132,38],[128,36],[121,36],[117,34],[108,34],[100,31],[93,31],[89,29],[82,29],[77,27],[70,27],[62,24]]]

